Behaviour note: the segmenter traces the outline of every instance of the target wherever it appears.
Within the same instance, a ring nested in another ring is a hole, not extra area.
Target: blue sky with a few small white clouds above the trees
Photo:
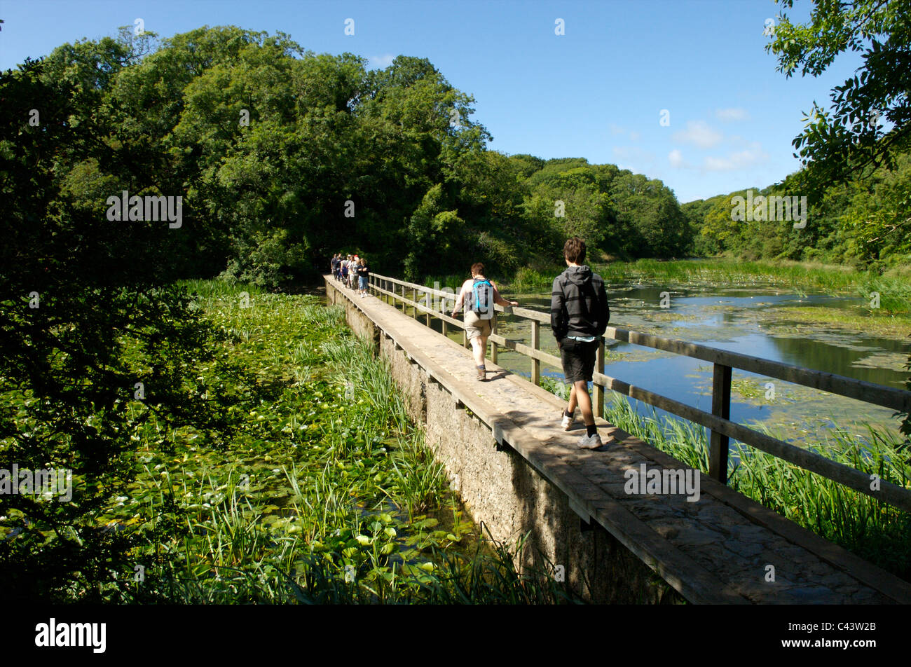
[[[804,20],[809,0],[789,13]],[[0,0],[0,67],[141,18],[169,37],[199,26],[281,31],[317,53],[374,67],[428,58],[476,99],[489,148],[584,157],[664,181],[681,202],[764,187],[798,168],[802,111],[827,105],[854,54],[824,76],[786,79],[763,46],[771,0],[286,2]],[[354,35],[344,34],[353,18]],[[564,35],[555,34],[557,19]],[[660,124],[661,111],[670,125]]]

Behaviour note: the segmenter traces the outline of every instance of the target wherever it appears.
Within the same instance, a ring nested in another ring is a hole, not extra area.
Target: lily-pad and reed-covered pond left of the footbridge
[[[109,563],[95,590],[58,599],[574,600],[549,571],[514,567],[521,544],[488,539],[466,516],[384,362],[340,307],[249,285],[188,287],[224,334],[189,391],[236,398],[214,433],[162,428],[152,416],[129,436],[134,473],[85,533],[127,559]],[[0,541],[25,549],[26,539],[56,539],[24,528],[22,513],[9,512]]]

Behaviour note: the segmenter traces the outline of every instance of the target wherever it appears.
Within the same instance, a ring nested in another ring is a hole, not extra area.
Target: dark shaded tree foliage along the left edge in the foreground
[[[69,165],[126,161],[109,117],[78,81],[40,62],[0,74],[0,467],[71,470],[70,502],[0,495],[15,529],[0,542],[10,600],[107,600],[134,539],[100,529],[136,469],[130,435],[228,427],[188,377],[215,332],[170,286],[167,222],[110,221],[77,199]],[[40,122],[29,122],[40,100]],[[61,178],[66,175],[66,178]],[[69,186],[67,188],[67,182]],[[101,190],[104,190],[102,187]],[[14,269],[15,268],[15,269]],[[138,383],[144,387],[137,399]]]

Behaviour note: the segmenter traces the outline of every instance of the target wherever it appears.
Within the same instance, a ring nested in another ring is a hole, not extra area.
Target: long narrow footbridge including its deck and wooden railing
[[[559,368],[558,357],[538,349],[542,324],[549,334],[548,313],[507,308],[507,312],[529,321],[531,344],[493,334],[489,339],[492,347],[491,362],[487,364],[489,381],[480,383],[474,379],[473,363],[464,337],[460,345],[430,326],[432,319],[438,319],[443,322],[444,334],[453,328],[463,328],[463,323],[445,314],[449,312],[447,302],[455,300],[452,292],[374,274],[370,278],[371,295],[361,298],[332,276],[324,276],[324,279],[328,300],[345,307],[349,323],[353,326],[359,323],[355,329],[370,327],[381,350],[393,351],[412,368],[420,369],[419,375],[408,375],[405,366],[405,370],[394,371],[394,376],[404,393],[414,397],[413,402],[424,402],[419,416],[427,424],[428,441],[445,441],[451,435],[449,432],[455,430],[461,438],[467,438],[468,433],[463,426],[456,426],[451,421],[453,417],[446,410],[429,402],[427,396],[434,391],[449,397],[447,405],[470,411],[489,429],[488,436],[496,441],[500,450],[507,449],[521,457],[523,465],[533,468],[550,487],[558,489],[555,493],[565,495],[568,508],[580,519],[574,529],[596,525],[604,528],[612,539],[629,549],[684,599],[725,604],[911,602],[911,584],[906,580],[875,567],[725,486],[728,440],[735,438],[883,503],[911,511],[911,491],[907,488],[883,480],[878,485],[871,485],[870,476],[864,472],[729,419],[732,368],[896,410],[907,410],[911,406],[911,392],[609,327],[606,337],[714,364],[712,409],[707,413],[604,375],[602,344],[594,378],[593,403],[602,437],[614,436],[619,442],[599,450],[580,450],[577,446],[579,431],[567,433],[559,428],[558,415],[565,403],[537,386],[540,364]],[[442,307],[429,307],[435,300],[442,301]],[[497,306],[497,310],[502,311],[502,308]],[[497,365],[497,349],[514,350],[530,357],[531,382]],[[392,353],[387,352],[389,354]],[[677,492],[628,492],[630,470],[658,470],[662,478],[678,476],[680,479],[683,478],[681,472],[685,474],[689,470],[692,474],[694,471],[605,422],[601,416],[606,389],[645,401],[711,429],[710,470],[708,475],[699,478],[698,499],[692,495],[688,498],[680,488]],[[448,411],[451,412],[452,407]],[[434,426],[437,422],[440,426]],[[446,451],[443,455],[450,459],[472,457],[463,453],[457,442]],[[534,524],[554,516],[554,512],[548,515],[536,507],[536,503],[541,504],[539,500],[527,501],[523,507],[529,518],[523,524],[516,518],[515,509],[504,508],[506,501],[493,498],[496,492],[491,487],[496,486],[496,476],[510,473],[505,469],[493,469],[496,466],[486,460],[489,457],[476,458],[481,460],[449,460],[446,467],[450,476],[455,477],[455,486],[466,498],[469,509],[484,514],[487,524],[511,521],[518,528],[527,528],[528,522]],[[461,478],[459,471],[462,471]],[[670,471],[670,475],[665,471]],[[521,485],[515,482],[515,465],[511,474],[513,487],[518,488]],[[476,479],[481,476],[490,477],[484,481]],[[526,488],[516,493],[529,492]],[[559,544],[553,549],[558,553]]]

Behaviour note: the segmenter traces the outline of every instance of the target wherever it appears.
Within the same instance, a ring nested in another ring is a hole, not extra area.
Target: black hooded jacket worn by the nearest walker
[[[557,340],[567,336],[602,336],[608,328],[608,292],[588,266],[569,266],[554,279],[550,292],[550,328]]]

